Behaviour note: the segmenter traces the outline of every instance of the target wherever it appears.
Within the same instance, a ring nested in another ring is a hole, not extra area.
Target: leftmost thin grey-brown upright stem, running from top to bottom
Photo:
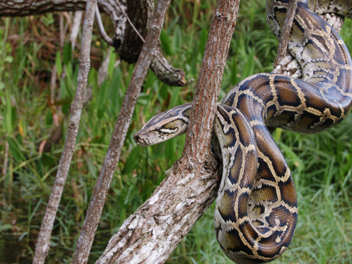
[[[65,146],[60,159],[60,164],[57,170],[54,186],[52,187],[52,192],[46,206],[41,230],[38,236],[35,256],[33,258],[33,264],[43,264],[45,261],[45,257],[49,252],[49,240],[52,226],[55,220],[56,211],[60,203],[68,170],[70,168],[72,155],[75,149],[76,137],[81,119],[83,99],[87,88],[88,73],[90,69],[89,54],[95,5],[95,0],[88,1],[85,22],[83,26],[82,47],[79,58],[80,68],[77,78],[77,88],[75,97],[71,105],[70,121],[68,125]]]

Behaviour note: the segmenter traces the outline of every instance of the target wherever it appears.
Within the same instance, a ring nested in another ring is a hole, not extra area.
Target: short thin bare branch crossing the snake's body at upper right
[[[287,53],[288,39],[290,37],[293,19],[296,14],[297,2],[298,2],[298,0],[290,1],[290,5],[287,10],[284,26],[281,31],[281,36],[280,36],[280,40],[279,40],[279,47],[277,48],[277,54],[276,54],[276,58],[274,61],[274,68],[280,63],[280,61],[285,57],[285,55]]]

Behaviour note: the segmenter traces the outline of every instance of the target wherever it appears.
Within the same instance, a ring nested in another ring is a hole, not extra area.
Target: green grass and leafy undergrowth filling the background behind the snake
[[[215,0],[172,1],[161,36],[173,65],[197,79]],[[111,25],[108,17],[103,18]],[[8,142],[6,175],[0,176],[0,262],[31,263],[41,218],[63,149],[68,112],[76,87],[78,54],[71,44],[58,49],[58,14],[0,20],[0,168]],[[31,32],[38,31],[38,36]],[[109,31],[109,29],[107,29]],[[112,32],[112,29],[110,29]],[[89,84],[76,151],[51,237],[47,263],[72,258],[95,179],[107,150],[133,65],[114,68],[97,86],[97,66],[107,45],[94,30]],[[352,22],[342,37],[352,51]],[[51,38],[51,39],[50,39]],[[56,41],[55,41],[56,40]],[[99,42],[101,44],[99,44]],[[265,1],[242,1],[231,42],[220,97],[239,80],[270,72],[278,41],[265,22]],[[77,49],[76,49],[77,52]],[[55,108],[49,103],[50,71],[58,68],[57,93],[64,117],[62,135],[48,152],[39,145],[53,131]],[[64,75],[60,75],[64,72]],[[140,147],[132,135],[160,111],[192,100],[195,83],[168,87],[149,71],[133,114],[123,152],[95,236],[89,263],[94,263],[123,221],[153,192],[182,153],[184,137]],[[274,133],[292,170],[299,198],[299,220],[289,249],[274,263],[352,264],[352,116],[327,132]],[[216,241],[214,205],[182,240],[168,264],[230,263]]]

